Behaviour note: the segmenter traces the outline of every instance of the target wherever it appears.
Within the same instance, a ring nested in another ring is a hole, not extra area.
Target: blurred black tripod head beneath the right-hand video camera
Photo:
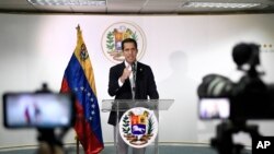
[[[217,126],[217,137],[212,139],[210,145],[218,151],[219,154],[240,154],[244,147],[242,144],[235,144],[232,134],[240,131],[247,132],[251,139],[259,138],[258,126],[247,126],[246,121],[222,121]]]

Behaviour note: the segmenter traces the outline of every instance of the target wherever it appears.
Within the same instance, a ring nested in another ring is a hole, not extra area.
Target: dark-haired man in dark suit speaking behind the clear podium
[[[159,94],[152,70],[149,66],[136,60],[138,54],[136,40],[133,38],[124,39],[122,50],[125,61],[110,69],[109,94],[115,96],[115,99],[158,99]],[[118,130],[116,115],[115,111],[110,114],[109,123],[114,126],[114,141],[118,142],[119,154],[127,154],[128,145],[119,134],[115,135],[116,130]],[[118,116],[121,118],[123,112],[119,112]],[[144,154],[145,149],[133,149],[133,153]]]

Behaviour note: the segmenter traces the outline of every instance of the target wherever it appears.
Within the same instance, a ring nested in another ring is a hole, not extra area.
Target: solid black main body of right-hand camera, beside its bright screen
[[[260,78],[244,75],[230,96],[230,119],[274,119],[274,86]]]

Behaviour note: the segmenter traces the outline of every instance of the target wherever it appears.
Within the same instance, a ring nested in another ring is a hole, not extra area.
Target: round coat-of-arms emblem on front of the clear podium
[[[144,107],[127,110],[119,121],[119,133],[129,146],[141,149],[149,145],[158,133],[153,111]]]

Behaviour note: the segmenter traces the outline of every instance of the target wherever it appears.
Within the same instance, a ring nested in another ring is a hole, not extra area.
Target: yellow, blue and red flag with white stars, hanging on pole
[[[76,95],[75,130],[85,154],[100,153],[104,144],[95,81],[80,26],[77,27],[77,46],[65,71],[60,92]]]

